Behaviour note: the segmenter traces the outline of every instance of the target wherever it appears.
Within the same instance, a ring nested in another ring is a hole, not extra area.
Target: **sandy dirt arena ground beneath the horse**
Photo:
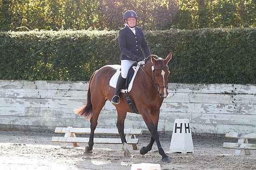
[[[132,164],[160,164],[161,170],[256,170],[256,151],[252,155],[234,156],[235,150],[223,149],[223,142],[237,142],[224,137],[193,137],[194,153],[169,153],[170,134],[160,134],[162,148],[171,158],[162,163],[156,144],[152,151],[140,155],[133,150],[131,158],[124,158],[122,145],[94,144],[93,153],[84,154],[87,144],[61,148],[52,143],[52,136],[64,136],[51,132],[0,131],[0,170],[130,170]],[[87,137],[87,136],[85,136]],[[102,137],[104,136],[96,136]],[[139,148],[149,142],[149,134],[137,136]],[[249,141],[255,143],[255,141]]]

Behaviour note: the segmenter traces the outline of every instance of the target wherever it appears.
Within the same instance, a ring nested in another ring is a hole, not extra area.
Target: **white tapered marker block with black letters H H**
[[[169,153],[194,153],[188,119],[175,119]]]

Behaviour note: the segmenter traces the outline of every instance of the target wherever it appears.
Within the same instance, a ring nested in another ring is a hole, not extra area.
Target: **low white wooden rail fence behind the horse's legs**
[[[56,127],[55,133],[65,133],[64,137],[52,137],[52,142],[60,142],[62,148],[67,147],[67,143],[73,143],[77,147],[77,143],[88,143],[89,138],[77,138],[75,133],[90,134],[90,128],[76,128],[76,127]],[[94,134],[116,134],[119,135],[117,129],[96,128]],[[127,144],[133,146],[134,150],[138,149],[139,139],[135,135],[141,135],[142,129],[124,129]],[[122,144],[120,138],[94,138],[94,144]]]

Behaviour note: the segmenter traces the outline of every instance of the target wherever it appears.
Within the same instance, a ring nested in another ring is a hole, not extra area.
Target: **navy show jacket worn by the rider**
[[[144,59],[141,48],[146,57],[150,56],[149,46],[141,27],[135,26],[134,34],[128,26],[125,26],[119,31],[118,44],[122,52],[120,60],[131,60],[134,55]]]

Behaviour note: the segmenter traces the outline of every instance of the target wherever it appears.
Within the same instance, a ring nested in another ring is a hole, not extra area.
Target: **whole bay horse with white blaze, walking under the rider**
[[[162,156],[162,162],[170,162],[170,158],[165,154],[159,141],[157,132],[160,107],[163,99],[168,96],[168,62],[172,57],[170,53],[166,59],[151,55],[146,59],[146,63],[138,70],[133,88],[129,92],[137,110],[146,123],[151,139],[149,144],[140,150],[141,155],[151,151],[154,142],[158,147],[158,152]],[[115,74],[120,65],[106,65],[96,70],[90,78],[87,93],[87,104],[75,113],[87,117],[90,120],[90,138],[85,153],[91,153],[94,145],[94,130],[98,124],[98,117],[107,100],[111,101],[115,88],[109,86],[111,77]],[[120,93],[120,104],[115,105],[117,111],[117,129],[123,144],[125,157],[131,157],[127,141],[124,135],[124,120],[127,112],[134,113],[128,106],[124,98],[124,93]]]

